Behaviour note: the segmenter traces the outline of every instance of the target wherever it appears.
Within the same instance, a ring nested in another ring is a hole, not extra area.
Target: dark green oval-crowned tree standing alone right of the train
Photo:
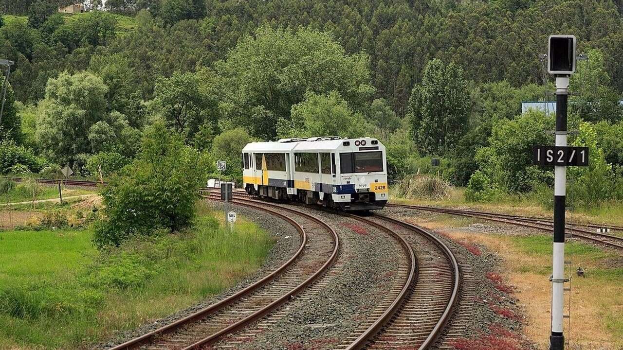
[[[422,83],[413,88],[407,116],[422,154],[451,151],[467,131],[469,95],[463,70],[434,59],[426,65]]]

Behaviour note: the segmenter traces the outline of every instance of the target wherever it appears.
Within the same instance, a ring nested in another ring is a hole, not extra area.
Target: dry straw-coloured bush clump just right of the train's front
[[[405,198],[442,199],[449,196],[450,184],[439,176],[414,174],[400,181],[396,192]]]

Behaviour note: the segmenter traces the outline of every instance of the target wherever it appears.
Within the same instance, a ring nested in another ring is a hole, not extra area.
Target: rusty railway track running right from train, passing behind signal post
[[[536,218],[536,217],[525,217],[525,216],[515,216],[508,214],[495,214],[490,212],[479,212],[474,210],[459,210],[459,209],[446,209],[446,208],[436,208],[436,207],[425,207],[425,206],[410,206],[407,204],[388,204],[389,207],[401,207],[406,209],[415,209],[415,210],[426,210],[430,212],[439,212],[442,214],[451,214],[451,215],[460,215],[465,217],[474,217],[477,219],[485,219],[495,222],[502,222],[503,224],[511,224],[511,225],[520,225],[524,227],[531,227],[533,229],[543,230],[543,231],[551,231],[553,230],[553,223],[551,220]],[[579,239],[587,240],[590,242],[594,242],[601,245],[606,245],[607,247],[616,248],[617,250],[623,250],[623,237],[617,237],[614,235],[602,234],[595,231],[590,231],[587,229],[580,229],[579,227],[605,227],[611,228],[615,230],[623,230],[623,228],[619,226],[611,226],[611,225],[567,225],[566,227],[566,235],[573,234],[574,237]]]

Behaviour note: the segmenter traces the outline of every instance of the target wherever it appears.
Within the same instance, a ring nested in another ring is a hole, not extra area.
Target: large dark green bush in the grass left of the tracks
[[[93,240],[98,248],[118,246],[155,229],[175,231],[191,224],[197,190],[213,167],[162,123],[146,132],[138,159],[103,189],[103,215]]]

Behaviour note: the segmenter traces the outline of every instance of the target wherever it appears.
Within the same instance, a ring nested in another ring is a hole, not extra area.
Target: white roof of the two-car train
[[[300,138],[300,139],[282,139],[279,141],[269,142],[252,142],[248,143],[243,152],[288,152],[288,151],[333,151],[335,149],[345,148],[344,141],[351,141],[354,145],[356,140],[366,140],[369,143],[374,138],[337,138],[335,136],[323,138]],[[379,142],[378,146],[383,147]]]

